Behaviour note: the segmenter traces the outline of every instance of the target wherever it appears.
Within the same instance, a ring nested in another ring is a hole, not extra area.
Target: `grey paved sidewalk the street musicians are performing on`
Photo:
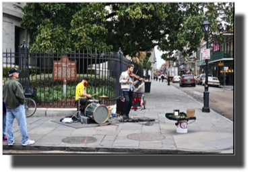
[[[142,92],[144,88],[141,88]],[[55,123],[59,112],[50,111],[42,117],[27,118],[28,136],[34,145],[22,146],[18,123],[13,123],[15,143],[3,149],[40,151],[87,151],[105,153],[137,154],[225,154],[232,153],[233,122],[211,110],[202,113],[203,105],[166,82],[152,80],[150,93],[145,93],[146,109],[131,112],[131,117],[149,117],[154,122],[113,123],[105,126],[87,127],[86,124]],[[173,109],[185,112],[195,109],[194,123],[187,125],[187,133],[177,133],[176,121],[166,119],[165,113]],[[66,109],[70,111],[70,109]],[[40,110],[37,110],[38,112]],[[65,116],[69,115],[63,111]],[[74,111],[71,111],[73,113]],[[58,114],[57,114],[58,113]],[[55,117],[53,117],[55,116]],[[62,115],[63,116],[63,115]],[[73,125],[73,127],[71,127]],[[77,126],[80,125],[78,128]],[[81,127],[82,125],[82,127]],[[84,127],[83,127],[84,125]],[[69,139],[66,139],[69,137]],[[69,140],[69,143],[65,140]],[[80,143],[79,141],[83,141]],[[63,142],[65,141],[65,142]]]

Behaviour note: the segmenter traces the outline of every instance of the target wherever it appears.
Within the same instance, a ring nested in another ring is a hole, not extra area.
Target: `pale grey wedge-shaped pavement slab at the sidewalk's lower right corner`
[[[215,141],[206,141],[201,143],[210,147],[215,147],[217,149],[228,149],[233,147],[233,138],[219,139]]]

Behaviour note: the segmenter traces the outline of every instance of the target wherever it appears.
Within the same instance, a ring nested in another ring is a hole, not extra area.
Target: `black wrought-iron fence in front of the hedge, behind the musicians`
[[[70,61],[70,62],[69,62]],[[3,79],[7,80],[9,68],[21,70],[19,82],[36,88],[35,101],[40,107],[75,107],[75,88],[84,76],[89,83],[86,93],[99,99],[108,96],[106,105],[117,103],[123,95],[119,77],[127,70],[127,64],[135,66],[133,73],[142,77],[143,68],[125,58],[119,52],[100,50],[40,50],[36,52],[24,41],[19,50],[3,52]],[[56,66],[57,65],[57,66]],[[65,83],[66,82],[66,83]]]

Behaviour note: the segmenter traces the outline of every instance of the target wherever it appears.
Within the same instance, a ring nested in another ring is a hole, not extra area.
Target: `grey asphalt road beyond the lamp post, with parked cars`
[[[167,84],[167,83],[166,83]],[[204,86],[196,85],[193,86],[179,86],[179,82],[172,83],[170,85],[178,88],[179,90],[183,91],[187,95],[193,97],[193,99],[199,101],[199,103],[203,104],[203,92]],[[209,107],[219,113],[220,115],[234,121],[233,118],[233,90],[219,88],[216,86],[209,86]]]

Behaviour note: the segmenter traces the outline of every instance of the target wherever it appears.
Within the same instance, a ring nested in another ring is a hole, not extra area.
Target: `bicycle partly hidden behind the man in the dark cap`
[[[31,117],[36,113],[36,102],[30,97],[36,96],[36,88],[34,87],[24,87],[24,96],[25,96],[25,113],[26,117]]]

